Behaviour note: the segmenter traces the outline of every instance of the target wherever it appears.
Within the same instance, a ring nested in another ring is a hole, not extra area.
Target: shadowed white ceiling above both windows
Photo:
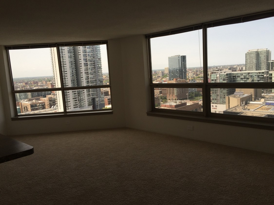
[[[273,0],[3,0],[0,45],[108,40],[273,9]]]

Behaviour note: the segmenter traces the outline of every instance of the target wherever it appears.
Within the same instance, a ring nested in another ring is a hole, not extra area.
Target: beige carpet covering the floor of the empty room
[[[274,204],[274,155],[129,128],[12,136],[0,204]],[[220,136],[221,137],[221,136]]]

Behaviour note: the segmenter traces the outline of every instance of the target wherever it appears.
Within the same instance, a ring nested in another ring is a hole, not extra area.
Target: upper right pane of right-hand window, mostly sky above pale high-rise
[[[274,17],[207,29],[211,83],[270,82]]]

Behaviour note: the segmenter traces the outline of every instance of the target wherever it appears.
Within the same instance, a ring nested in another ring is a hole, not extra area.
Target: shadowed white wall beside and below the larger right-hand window
[[[143,35],[121,39],[126,126],[274,154],[274,131],[147,116],[150,110],[147,42]],[[193,130],[187,130],[193,125]]]

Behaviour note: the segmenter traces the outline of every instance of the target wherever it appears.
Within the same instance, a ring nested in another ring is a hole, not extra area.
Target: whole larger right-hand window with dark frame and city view
[[[262,12],[146,35],[148,115],[274,129],[273,16]]]

